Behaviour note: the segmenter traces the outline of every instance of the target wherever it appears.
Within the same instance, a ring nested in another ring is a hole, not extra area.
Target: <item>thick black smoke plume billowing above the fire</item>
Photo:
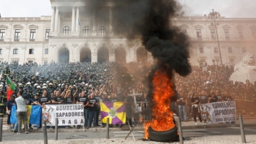
[[[173,77],[173,70],[181,76],[189,75],[191,72],[188,61],[189,40],[177,26],[173,26],[171,21],[181,12],[181,6],[177,1],[113,0],[108,2],[113,4],[113,26],[118,26],[128,39],[141,39],[146,50],[157,59],[157,65],[148,77],[148,99],[152,96],[151,80],[157,69],[170,72],[170,78]],[[93,0],[91,5],[98,13],[100,13],[99,10],[104,9],[102,1]]]

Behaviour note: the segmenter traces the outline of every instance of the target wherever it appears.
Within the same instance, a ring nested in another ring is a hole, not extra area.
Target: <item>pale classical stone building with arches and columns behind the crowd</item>
[[[94,12],[86,1],[51,0],[52,15],[41,18],[0,18],[0,61],[19,64],[50,61],[153,61],[140,39],[129,41],[116,26],[115,7],[102,2]],[[256,54],[256,18],[217,19],[182,16],[170,20],[191,38],[190,61],[236,64],[243,53]]]

